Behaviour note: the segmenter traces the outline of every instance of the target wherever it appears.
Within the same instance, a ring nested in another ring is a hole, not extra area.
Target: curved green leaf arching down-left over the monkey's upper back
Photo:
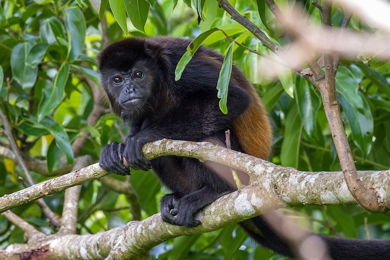
[[[193,41],[191,41],[190,45],[187,47],[187,51],[183,54],[181,59],[176,65],[175,70],[175,80],[180,80],[181,74],[183,73],[185,67],[187,66],[188,62],[192,59],[192,57],[195,55],[195,52],[199,48],[200,44],[202,44],[203,40],[205,40],[207,37],[209,37],[212,33],[219,31],[218,28],[211,28],[210,30],[201,33],[198,37],[196,37]]]

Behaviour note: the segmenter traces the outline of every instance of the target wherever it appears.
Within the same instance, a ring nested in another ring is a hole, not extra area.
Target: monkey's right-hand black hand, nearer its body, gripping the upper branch
[[[131,168],[147,171],[151,168],[151,163],[143,156],[142,146],[150,140],[141,133],[126,138],[123,157]]]

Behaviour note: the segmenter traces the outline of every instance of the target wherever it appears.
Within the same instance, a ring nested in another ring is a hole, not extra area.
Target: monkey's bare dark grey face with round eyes
[[[102,70],[102,83],[111,103],[123,113],[144,112],[153,102],[154,72],[146,64],[137,63],[129,69]]]

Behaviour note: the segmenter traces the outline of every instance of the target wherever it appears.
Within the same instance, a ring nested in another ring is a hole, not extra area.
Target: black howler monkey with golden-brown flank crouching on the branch
[[[104,146],[100,166],[129,175],[152,167],[173,191],[161,200],[166,222],[196,227],[194,213],[233,185],[193,158],[163,156],[146,160],[142,146],[163,138],[225,142],[230,129],[232,149],[267,159],[272,133],[264,107],[250,82],[234,65],[229,83],[228,113],[218,106],[216,84],[223,57],[200,46],[180,80],[175,68],[190,40],[172,37],[130,38],[113,43],[98,56],[101,83],[113,111],[130,126],[123,143]],[[251,237],[277,253],[293,257],[289,245],[261,217],[240,223]],[[321,236],[333,259],[390,259],[390,242]]]

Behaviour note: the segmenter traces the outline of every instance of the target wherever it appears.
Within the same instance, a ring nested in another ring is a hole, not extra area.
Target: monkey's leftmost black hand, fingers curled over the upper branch
[[[130,167],[125,166],[122,161],[124,148],[123,143],[117,142],[105,145],[101,151],[100,167],[118,175],[130,175]]]

